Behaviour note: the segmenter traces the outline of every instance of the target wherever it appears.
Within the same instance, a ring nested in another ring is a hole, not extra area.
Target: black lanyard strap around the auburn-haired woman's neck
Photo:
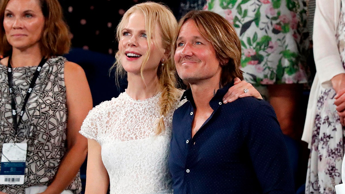
[[[17,109],[16,109],[16,100],[14,100],[14,94],[13,94],[13,80],[12,80],[12,66],[11,66],[11,55],[9,56],[8,58],[8,62],[7,62],[7,77],[8,77],[8,85],[10,87],[10,93],[11,93],[11,108],[12,108],[12,119],[13,119],[13,128],[14,130],[16,131],[15,132],[15,136],[14,136],[14,142],[17,141],[17,135],[18,135],[18,126],[21,122],[21,119],[22,119],[22,116],[24,114],[24,111],[25,111],[25,108],[26,108],[26,104],[28,103],[28,100],[29,100],[29,97],[30,97],[30,94],[32,92],[32,89],[33,87],[35,86],[36,84],[36,80],[38,78],[38,75],[40,74],[40,71],[41,71],[41,68],[42,66],[46,63],[47,59],[45,59],[44,57],[42,58],[40,64],[38,65],[35,73],[33,74],[33,78],[31,80],[31,83],[30,83],[30,86],[29,86],[29,89],[25,95],[25,98],[24,98],[24,104],[23,104],[23,107],[20,111],[20,115],[19,115],[19,120],[17,122]]]

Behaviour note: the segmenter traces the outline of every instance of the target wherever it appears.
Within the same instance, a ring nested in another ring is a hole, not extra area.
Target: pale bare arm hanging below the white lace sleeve
[[[101,157],[101,146],[94,139],[88,139],[85,194],[107,193],[109,175]]]

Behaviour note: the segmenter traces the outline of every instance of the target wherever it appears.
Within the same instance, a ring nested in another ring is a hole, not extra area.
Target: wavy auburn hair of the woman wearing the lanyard
[[[10,0],[0,1],[0,19],[3,21],[7,3]],[[71,40],[69,38],[69,29],[63,20],[62,8],[58,0],[37,0],[41,6],[45,25],[43,27],[42,37],[40,40],[41,53],[46,58],[68,53]],[[12,52],[12,46],[6,38],[3,22],[0,28],[0,55],[8,56]]]

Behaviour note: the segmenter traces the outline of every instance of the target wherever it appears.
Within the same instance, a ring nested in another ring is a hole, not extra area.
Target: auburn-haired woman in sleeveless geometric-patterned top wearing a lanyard
[[[92,101],[82,68],[56,57],[70,48],[59,2],[2,0],[0,18],[0,150],[27,145],[23,184],[0,193],[80,193],[87,140],[78,131]]]

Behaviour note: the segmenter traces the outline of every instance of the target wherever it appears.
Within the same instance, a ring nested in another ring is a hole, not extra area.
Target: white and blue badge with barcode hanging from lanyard
[[[26,143],[5,143],[2,145],[0,184],[24,184]]]

